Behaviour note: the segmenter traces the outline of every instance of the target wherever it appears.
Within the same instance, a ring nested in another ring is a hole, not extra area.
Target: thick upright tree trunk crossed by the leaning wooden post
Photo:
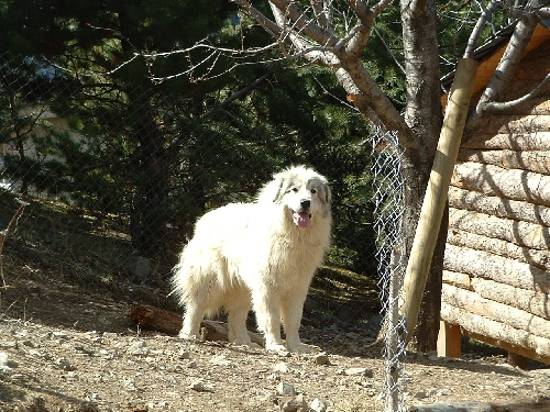
[[[436,4],[431,0],[402,0],[402,25],[407,74],[407,105],[405,122],[414,131],[416,147],[407,147],[411,165],[404,165],[405,215],[404,236],[408,241],[406,256],[410,256],[424,196],[436,155],[443,114],[439,99],[439,47],[437,41]],[[441,276],[447,225],[441,224],[438,245],[433,253],[420,316],[409,347],[428,352],[437,348],[439,310],[441,305]]]

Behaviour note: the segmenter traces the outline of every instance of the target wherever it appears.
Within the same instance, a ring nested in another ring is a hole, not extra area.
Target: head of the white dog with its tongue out
[[[327,178],[305,166],[294,166],[274,175],[257,197],[258,203],[284,205],[301,229],[309,227],[316,216],[329,218],[331,200]]]

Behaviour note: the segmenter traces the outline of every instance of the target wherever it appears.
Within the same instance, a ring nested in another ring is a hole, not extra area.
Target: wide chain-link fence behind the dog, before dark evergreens
[[[327,265],[375,279],[361,145],[260,122],[238,102],[67,74],[35,57],[1,55],[0,71],[0,224],[15,198],[30,203],[9,247],[58,254],[61,274],[79,279],[163,281],[198,216],[251,200],[274,171],[304,163],[334,192]]]

